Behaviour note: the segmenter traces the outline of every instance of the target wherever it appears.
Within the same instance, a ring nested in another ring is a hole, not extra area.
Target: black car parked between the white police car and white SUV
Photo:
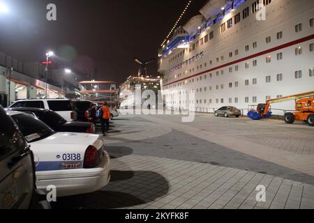
[[[62,116],[47,109],[27,108],[27,107],[13,107],[7,109],[8,111],[27,112],[33,114],[40,121],[47,124],[52,130],[56,132],[96,132],[95,125],[87,122],[66,121]]]

